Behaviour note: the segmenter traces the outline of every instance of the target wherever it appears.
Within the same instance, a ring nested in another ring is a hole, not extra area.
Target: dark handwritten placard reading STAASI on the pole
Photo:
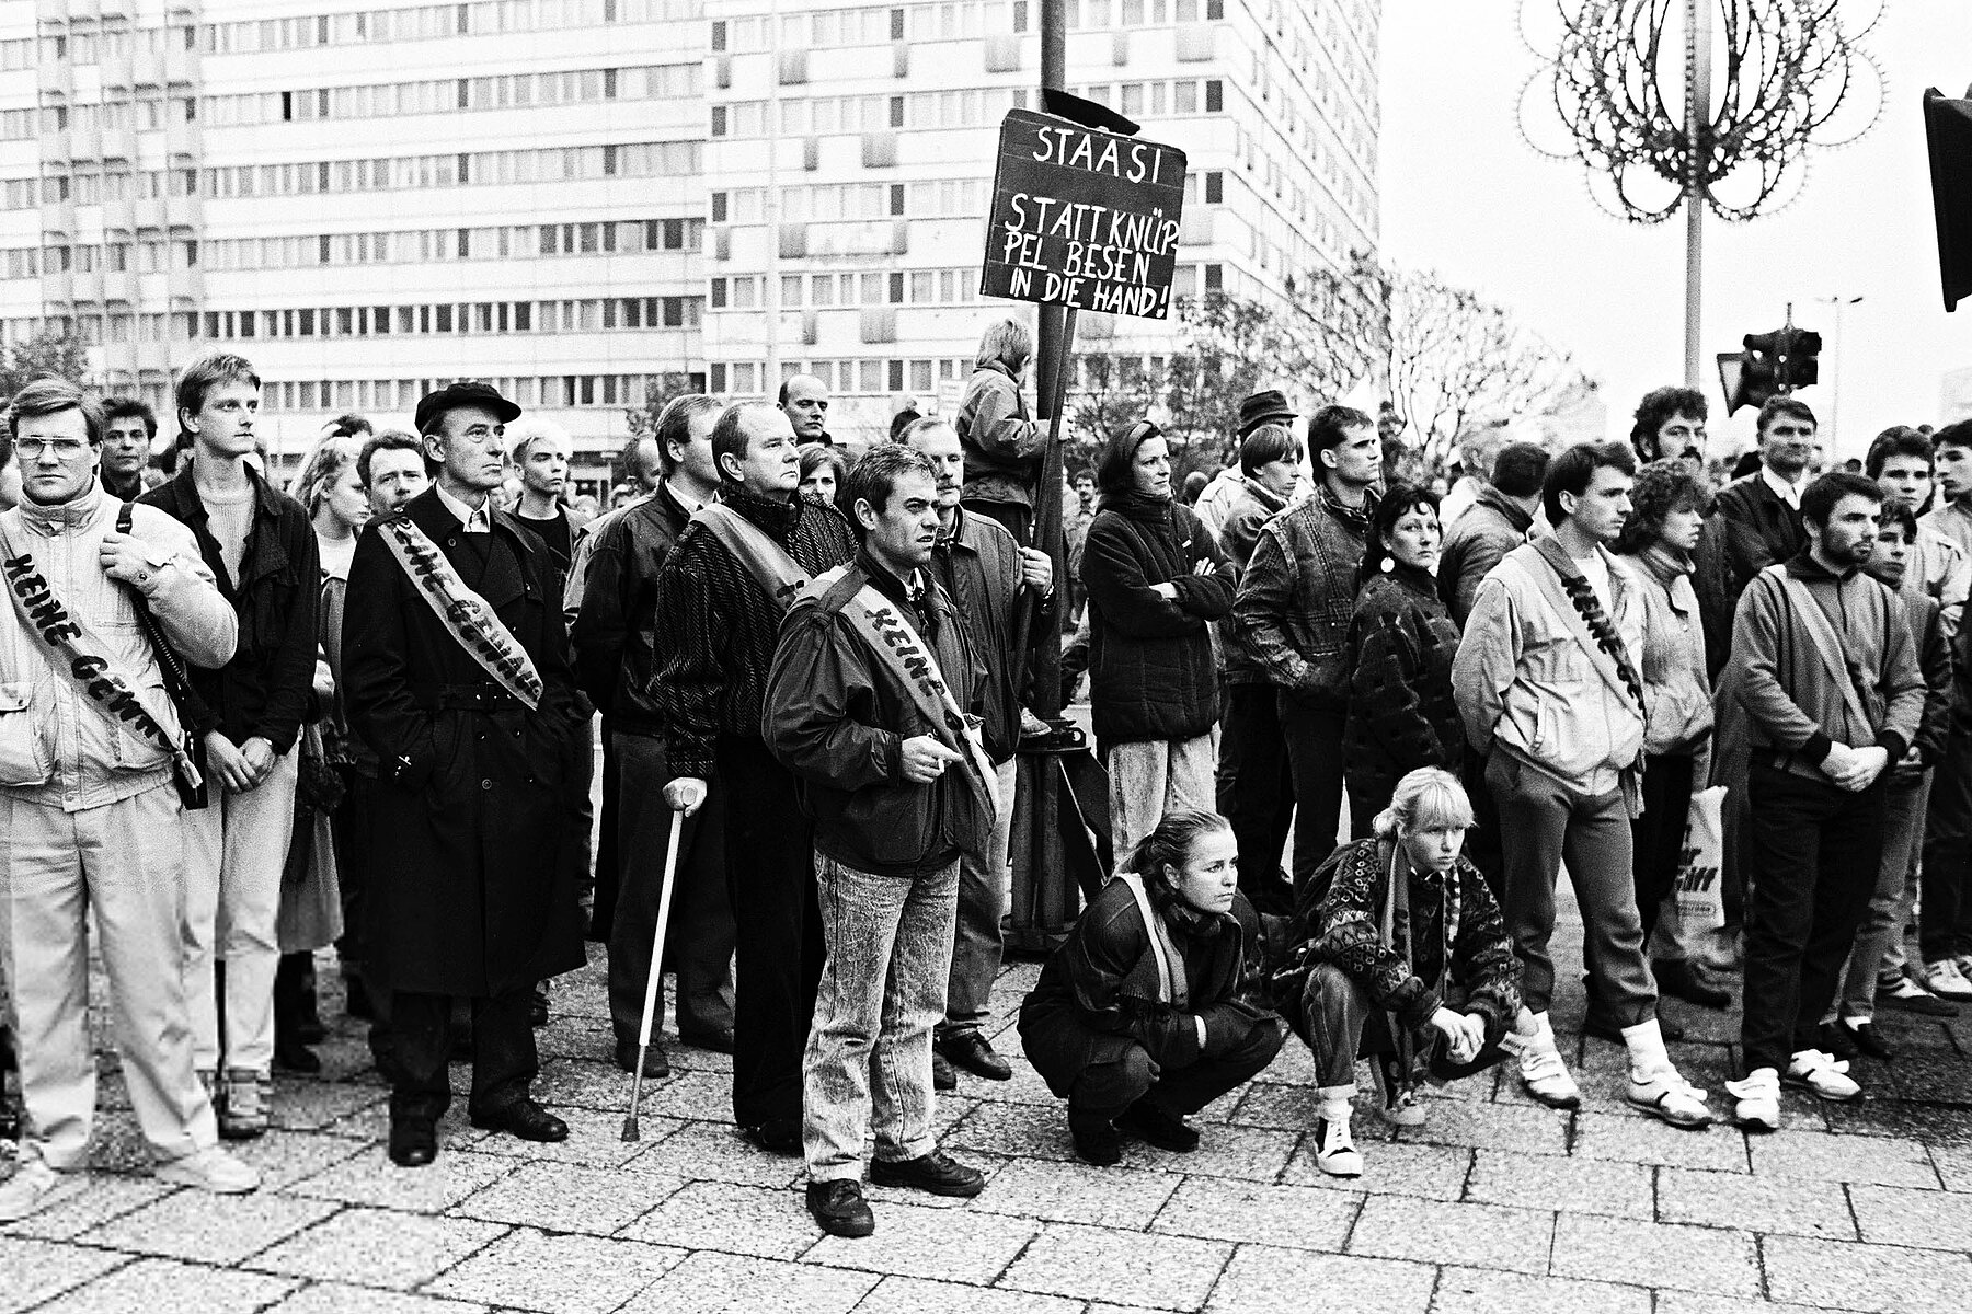
[[[1175,146],[1008,110],[980,294],[1163,319],[1183,205]]]

